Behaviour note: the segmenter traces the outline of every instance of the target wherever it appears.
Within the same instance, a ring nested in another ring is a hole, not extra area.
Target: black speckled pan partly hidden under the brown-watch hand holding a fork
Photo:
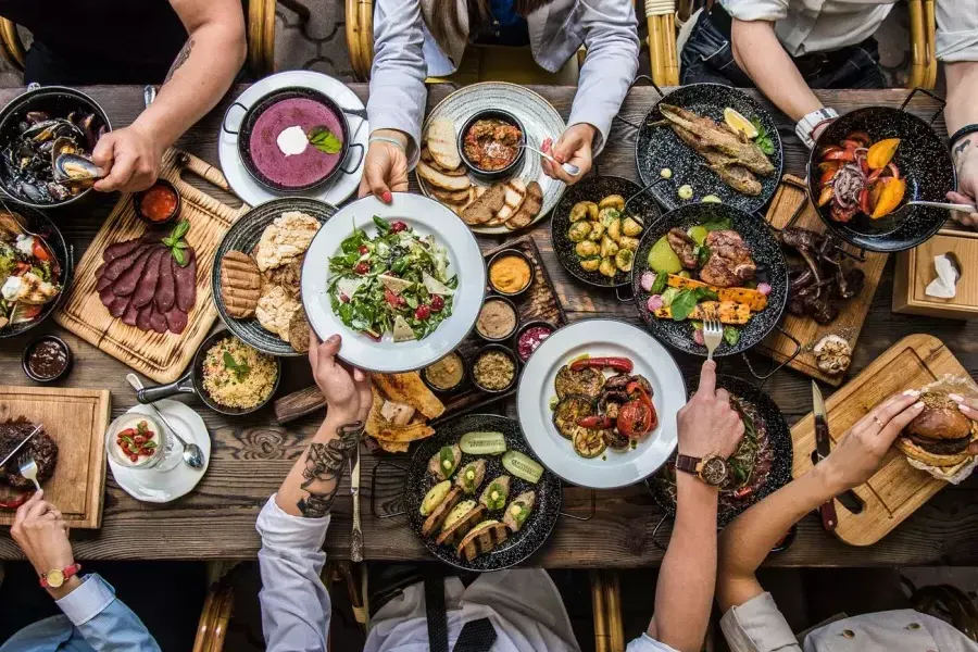
[[[689,396],[695,393],[700,386],[700,379],[689,378],[687,381],[689,387]],[[785,485],[791,481],[791,467],[793,464],[793,453],[791,446],[791,429],[781,415],[780,409],[770,397],[748,383],[735,376],[717,376],[717,388],[724,388],[732,396],[741,399],[745,403],[751,403],[756,408],[757,414],[764,419],[767,427],[767,437],[774,449],[774,460],[772,461],[770,475],[757,491],[740,501],[736,507],[723,510],[716,515],[717,527],[725,527],[731,521],[740,516],[748,507],[761,502]],[[668,480],[665,477],[666,469],[675,466],[676,455],[673,454],[663,468],[653,477],[645,480],[649,491],[652,493],[653,500],[660,507],[665,510],[670,516],[676,516],[676,502],[668,489]]]

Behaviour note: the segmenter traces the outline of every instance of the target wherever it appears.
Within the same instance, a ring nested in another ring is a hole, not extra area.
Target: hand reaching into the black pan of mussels
[[[91,161],[109,176],[96,181],[95,189],[100,192],[146,190],[160,176],[164,149],[152,130],[138,124],[104,134],[91,152]]]

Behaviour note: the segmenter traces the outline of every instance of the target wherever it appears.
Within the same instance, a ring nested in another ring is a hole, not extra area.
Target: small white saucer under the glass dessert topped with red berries
[[[115,478],[118,486],[136,500],[166,503],[187,494],[197,487],[208,471],[208,465],[211,463],[211,435],[208,432],[203,419],[189,405],[164,399],[156,401],[156,408],[174,425],[180,437],[200,447],[204,455],[203,468],[193,469],[180,461],[179,464],[165,472],[153,468],[135,469],[116,464],[111,456],[109,456],[109,467],[112,468],[112,477]],[[149,405],[135,405],[126,414],[154,416],[152,408]]]

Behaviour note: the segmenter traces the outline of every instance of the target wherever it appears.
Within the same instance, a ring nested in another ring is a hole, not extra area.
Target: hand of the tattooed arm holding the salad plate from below
[[[309,363],[316,385],[326,397],[329,412],[339,413],[351,423],[359,421],[365,424],[374,399],[369,374],[358,368],[351,373],[336,360],[342,346],[339,335],[319,342],[315,331],[310,328],[309,341]]]

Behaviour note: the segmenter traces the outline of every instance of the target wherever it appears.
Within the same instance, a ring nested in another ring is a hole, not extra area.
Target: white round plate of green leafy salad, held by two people
[[[448,250],[449,276],[459,276],[451,316],[423,340],[394,342],[388,333],[381,341],[374,341],[344,326],[329,304],[329,259],[340,253],[340,243],[354,227],[376,235],[374,215],[389,222],[401,220],[422,237],[434,234],[436,242]],[[394,192],[390,204],[373,196],[347,204],[313,238],[302,264],[302,305],[309,323],[319,339],[342,335],[340,359],[369,372],[419,369],[453,351],[475,325],[485,294],[486,263],[475,236],[457,215],[421,195]]]

